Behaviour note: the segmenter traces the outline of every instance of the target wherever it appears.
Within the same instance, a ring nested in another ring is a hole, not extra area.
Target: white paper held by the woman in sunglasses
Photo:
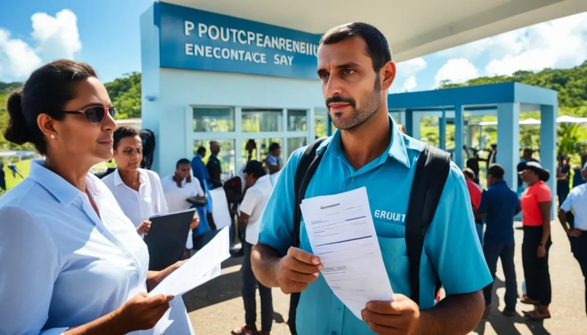
[[[149,292],[149,296],[159,293],[181,296],[220,275],[220,264],[229,257],[230,238],[228,227],[225,227],[180,268],[163,279]]]

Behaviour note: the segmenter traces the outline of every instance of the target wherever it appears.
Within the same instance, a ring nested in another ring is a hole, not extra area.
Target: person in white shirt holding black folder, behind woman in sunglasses
[[[143,141],[137,129],[118,127],[113,140],[116,170],[104,177],[102,182],[108,186],[139,235],[144,237],[151,226],[149,218],[168,211],[161,179],[156,172],[140,168]]]

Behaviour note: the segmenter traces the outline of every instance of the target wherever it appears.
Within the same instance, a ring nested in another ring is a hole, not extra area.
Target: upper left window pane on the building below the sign
[[[194,132],[234,131],[234,109],[194,107]]]

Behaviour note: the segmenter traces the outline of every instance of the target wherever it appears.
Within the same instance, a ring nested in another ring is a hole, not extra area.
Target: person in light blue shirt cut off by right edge
[[[581,170],[583,179],[587,179],[587,162]],[[575,220],[567,225],[567,213],[575,212]],[[573,187],[558,211],[558,219],[571,242],[571,252],[581,266],[585,279],[585,313],[587,313],[587,184]]]

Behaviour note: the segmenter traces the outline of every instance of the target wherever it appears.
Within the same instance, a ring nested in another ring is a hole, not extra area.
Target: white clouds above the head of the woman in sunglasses
[[[31,21],[35,46],[12,38],[8,30],[0,29],[0,81],[25,80],[41,64],[61,58],[73,59],[82,49],[77,17],[69,9],[55,16],[34,13]]]

